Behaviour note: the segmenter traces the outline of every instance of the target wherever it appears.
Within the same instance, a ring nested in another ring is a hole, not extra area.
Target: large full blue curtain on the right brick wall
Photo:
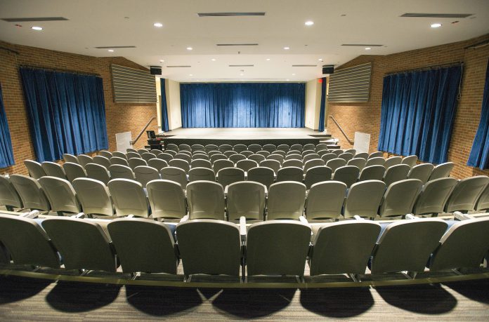
[[[462,65],[384,77],[379,151],[447,161]]]

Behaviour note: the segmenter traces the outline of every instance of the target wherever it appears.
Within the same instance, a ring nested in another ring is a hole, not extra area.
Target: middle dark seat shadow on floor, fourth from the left
[[[296,289],[226,288],[212,302],[214,308],[239,318],[260,318],[285,309]]]

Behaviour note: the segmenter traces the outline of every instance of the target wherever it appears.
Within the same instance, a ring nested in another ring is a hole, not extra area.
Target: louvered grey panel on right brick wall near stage
[[[368,102],[372,63],[335,70],[330,76],[329,102]]]

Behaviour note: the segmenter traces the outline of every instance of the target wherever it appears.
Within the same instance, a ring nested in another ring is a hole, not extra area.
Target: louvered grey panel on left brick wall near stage
[[[149,71],[111,65],[115,102],[156,103],[155,76]]]

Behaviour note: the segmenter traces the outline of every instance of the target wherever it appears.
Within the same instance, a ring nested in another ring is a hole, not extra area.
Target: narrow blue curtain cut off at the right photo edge
[[[470,151],[467,166],[489,168],[489,61],[485,72],[484,95],[482,99],[481,122]]]

